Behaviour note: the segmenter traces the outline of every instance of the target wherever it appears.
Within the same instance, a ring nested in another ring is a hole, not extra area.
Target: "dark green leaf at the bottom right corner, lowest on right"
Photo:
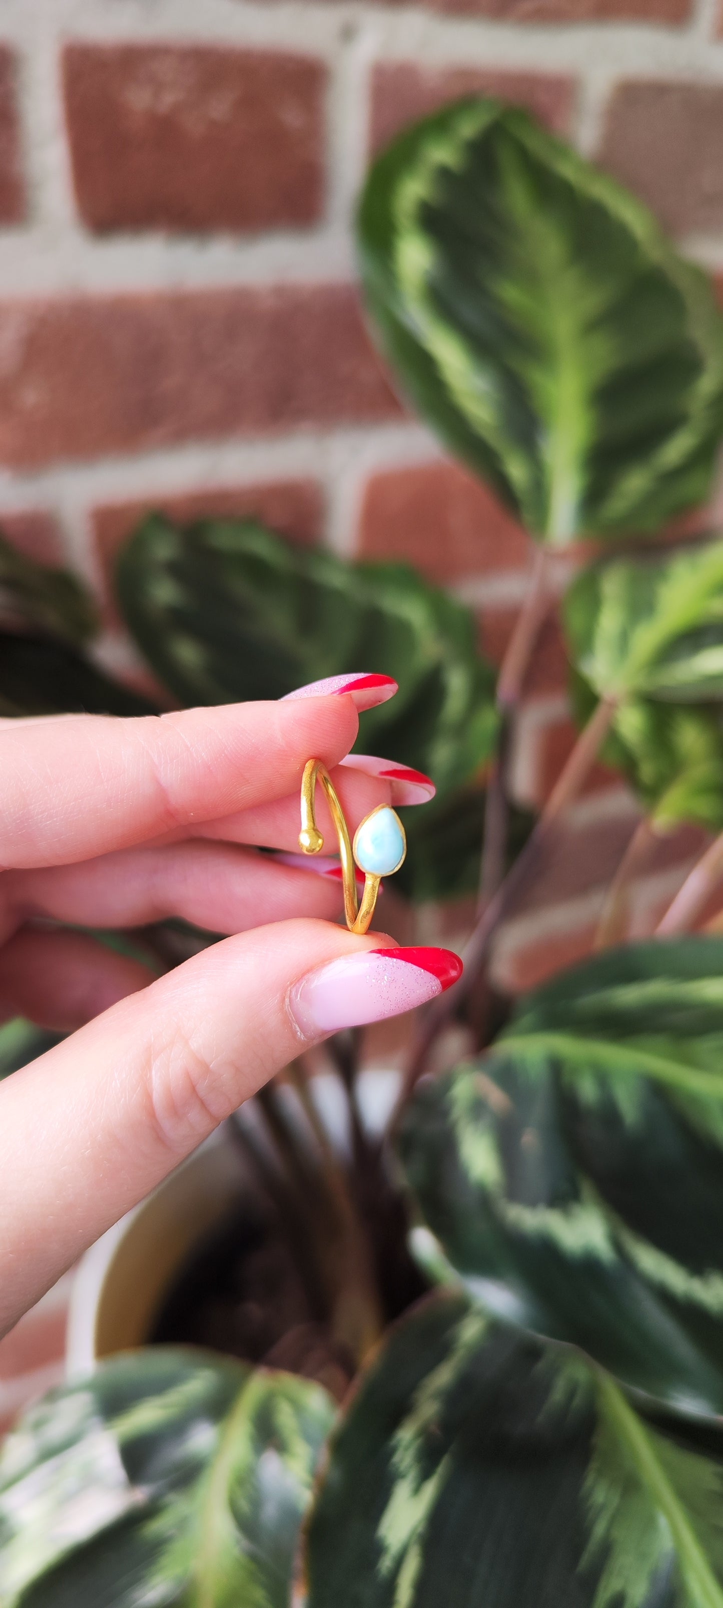
[[[723,1431],[434,1298],[331,1446],[308,1608],[723,1608]]]

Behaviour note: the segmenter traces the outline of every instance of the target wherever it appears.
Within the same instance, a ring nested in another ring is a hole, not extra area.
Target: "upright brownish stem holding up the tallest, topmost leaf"
[[[508,642],[496,683],[496,706],[501,716],[500,743],[487,785],[477,915],[482,913],[487,900],[496,894],[504,878],[509,823],[509,757],[527,669],[551,605],[548,558],[548,550],[538,547],[527,595]]]

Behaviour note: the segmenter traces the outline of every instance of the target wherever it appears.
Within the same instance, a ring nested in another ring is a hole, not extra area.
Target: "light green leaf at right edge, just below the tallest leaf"
[[[723,693],[723,542],[591,564],[570,587],[570,656],[598,696],[664,703]]]

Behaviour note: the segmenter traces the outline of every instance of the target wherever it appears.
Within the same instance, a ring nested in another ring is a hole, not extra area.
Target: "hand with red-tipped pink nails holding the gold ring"
[[[0,1011],[85,1023],[0,1084],[0,1333],[305,1045],[460,974],[447,950],[333,925],[329,867],[286,859],[312,756],[352,831],[378,804],[432,796],[416,772],[349,756],[357,711],[394,691],[341,677],[281,703],[0,724]],[[318,823],[336,849],[321,796]],[[236,936],[153,979],[85,934],[34,925],[172,915]]]

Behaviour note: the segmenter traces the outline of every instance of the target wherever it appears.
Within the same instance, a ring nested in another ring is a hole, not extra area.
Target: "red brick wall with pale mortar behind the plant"
[[[410,558],[479,611],[500,659],[525,537],[395,400],[350,236],[368,153],[477,87],[598,154],[723,269],[718,0],[0,0],[0,523],[98,589],[111,667],[137,662],[108,563],[159,505]],[[545,794],[570,741],[551,624],[522,794]],[[508,923],[508,981],[590,941],[633,820],[598,770]],[[641,925],[694,849],[664,846]],[[58,1375],[66,1291],[0,1344],[0,1428]]]

